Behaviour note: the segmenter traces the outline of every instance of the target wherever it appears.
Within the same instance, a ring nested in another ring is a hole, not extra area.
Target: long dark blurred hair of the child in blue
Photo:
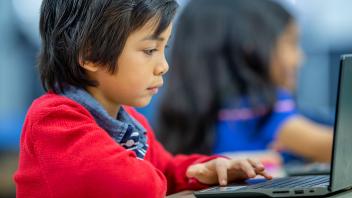
[[[157,131],[169,151],[209,154],[218,111],[234,98],[246,96],[252,107],[272,110],[271,54],[292,20],[270,0],[193,0],[186,6],[158,115]]]

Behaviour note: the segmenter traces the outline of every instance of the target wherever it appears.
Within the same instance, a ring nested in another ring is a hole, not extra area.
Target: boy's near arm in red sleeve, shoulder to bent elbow
[[[23,148],[53,197],[165,196],[163,173],[119,146],[88,112],[63,105],[34,120]]]

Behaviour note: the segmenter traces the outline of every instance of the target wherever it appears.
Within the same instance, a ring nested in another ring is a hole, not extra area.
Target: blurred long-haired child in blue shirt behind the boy
[[[176,28],[161,141],[174,153],[272,148],[285,161],[328,162],[332,128],[295,108],[301,57],[297,24],[276,2],[191,1]]]

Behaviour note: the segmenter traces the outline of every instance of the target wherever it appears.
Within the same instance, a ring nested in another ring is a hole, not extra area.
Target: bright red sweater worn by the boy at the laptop
[[[213,157],[172,156],[148,121],[133,108],[126,110],[147,129],[144,160],[117,144],[77,102],[52,93],[34,101],[21,136],[17,197],[155,198],[204,187],[185,171]]]

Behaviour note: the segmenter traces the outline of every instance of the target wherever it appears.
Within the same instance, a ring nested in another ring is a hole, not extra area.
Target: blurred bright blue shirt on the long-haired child
[[[283,123],[297,115],[292,95],[282,89],[277,91],[273,112],[260,126],[261,119],[268,113],[266,108],[253,109],[245,99],[235,106],[229,105],[219,112],[214,153],[268,149]],[[296,158],[284,153],[283,157],[284,161]]]

